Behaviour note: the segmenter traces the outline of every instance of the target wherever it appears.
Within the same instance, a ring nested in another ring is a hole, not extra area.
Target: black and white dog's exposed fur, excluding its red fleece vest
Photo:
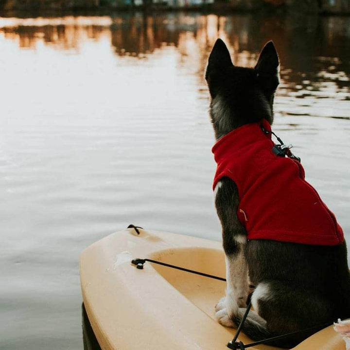
[[[206,80],[217,141],[247,124],[259,124],[262,120],[273,123],[279,58],[272,41],[262,49],[255,68],[242,68],[232,64],[225,43],[218,39],[210,53]],[[261,174],[264,176],[263,171]],[[222,325],[236,327],[240,323],[249,293],[248,275],[256,286],[251,297],[254,311],[249,312],[242,331],[254,340],[350,317],[350,273],[345,241],[312,245],[292,243],[288,239],[282,242],[247,239],[249,232],[239,217],[240,211],[246,213],[239,210],[238,185],[232,177],[223,176],[215,192],[227,269],[226,297],[215,307]],[[254,200],[257,202],[260,198]],[[281,201],[285,202],[283,198]],[[271,206],[277,205],[271,203]],[[335,218],[334,222],[336,224]],[[315,332],[289,336],[269,345],[291,348]]]

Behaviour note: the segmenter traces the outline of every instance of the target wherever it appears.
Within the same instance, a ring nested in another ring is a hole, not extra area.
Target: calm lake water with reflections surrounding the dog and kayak
[[[273,39],[274,130],[350,238],[350,18],[0,18],[0,349],[82,349],[80,252],[128,224],[220,240],[203,78]]]

